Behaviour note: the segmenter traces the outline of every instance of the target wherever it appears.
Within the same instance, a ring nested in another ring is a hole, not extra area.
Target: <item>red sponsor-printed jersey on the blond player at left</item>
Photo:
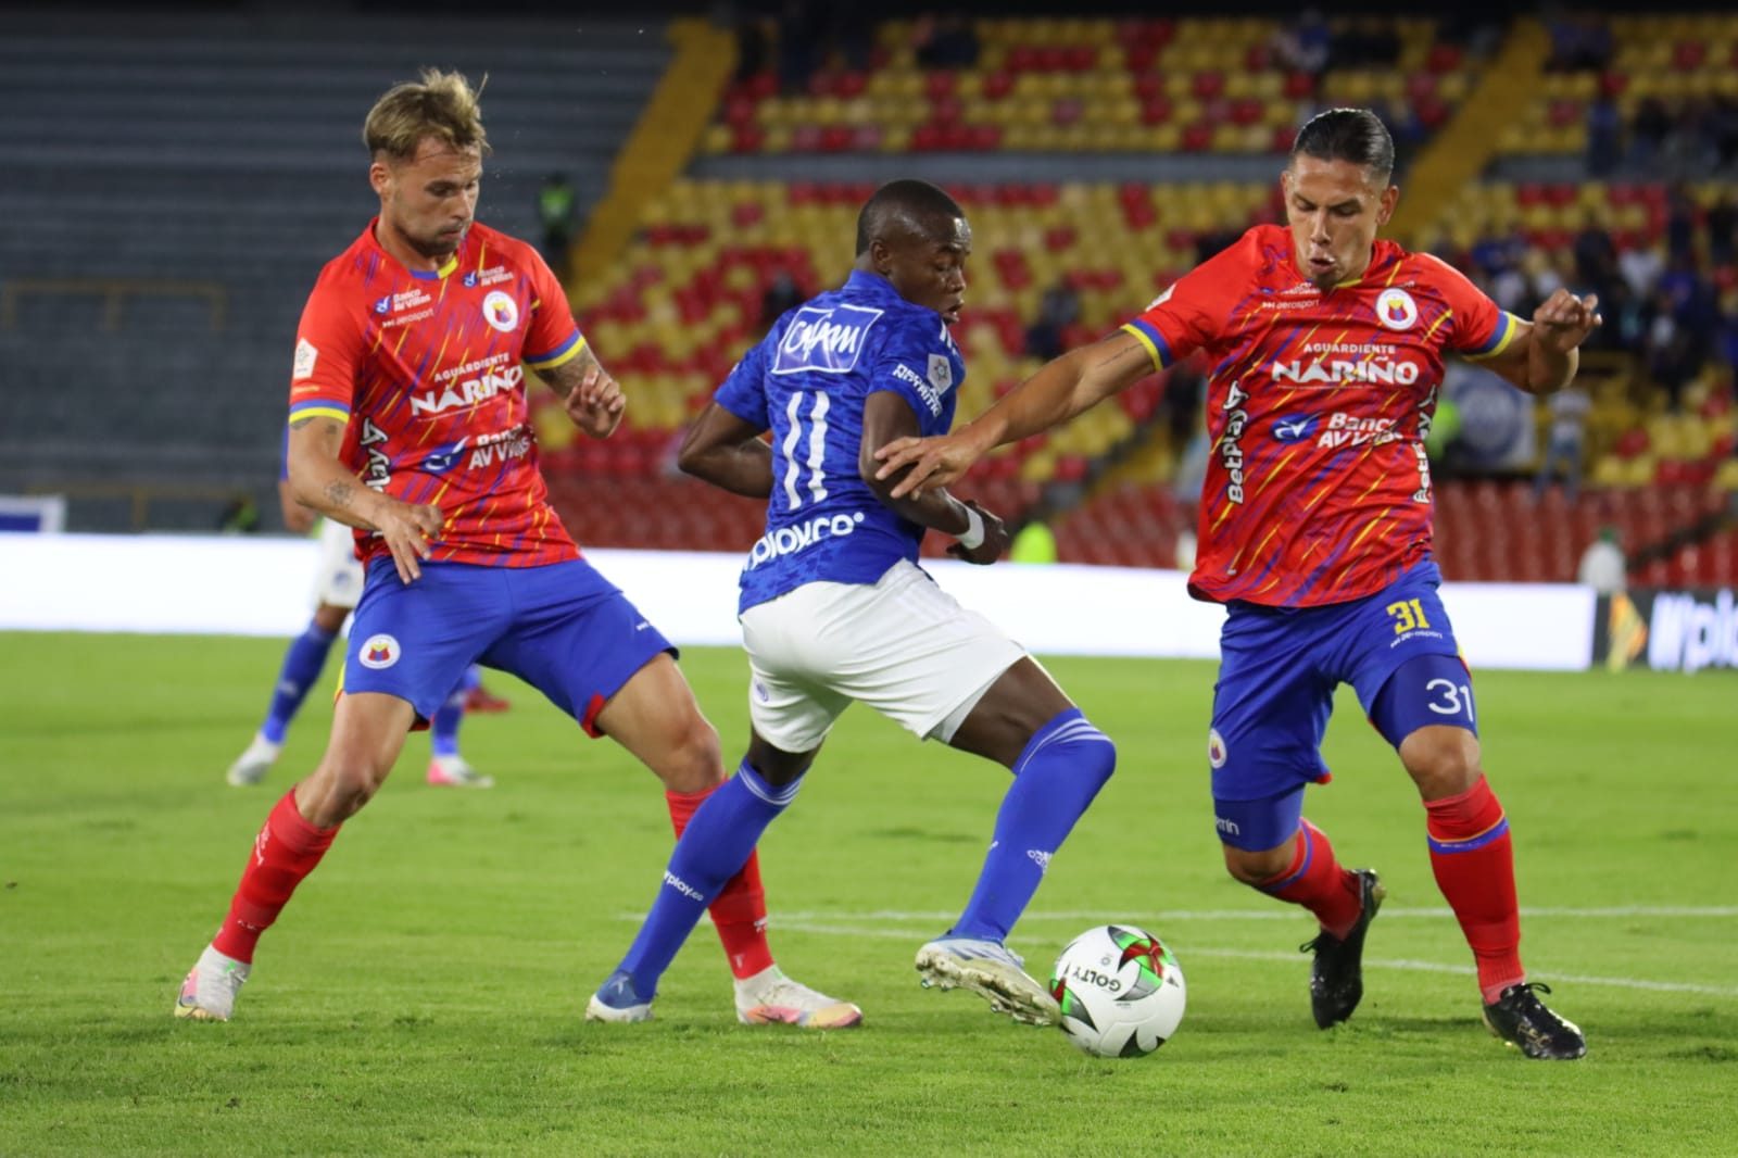
[[[327,263],[295,336],[290,421],[346,423],[344,464],[368,487],[433,502],[441,562],[539,567],[579,558],[537,469],[525,369],[586,339],[537,250],[473,224],[438,271],[407,270],[370,221]],[[356,532],[368,562],[386,546]]]

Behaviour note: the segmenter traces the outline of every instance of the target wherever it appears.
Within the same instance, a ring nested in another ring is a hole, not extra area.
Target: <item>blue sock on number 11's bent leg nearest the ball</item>
[[[1032,901],[1050,857],[1116,769],[1116,746],[1079,708],[1069,708],[1025,742],[977,888],[951,937],[1006,941]]]

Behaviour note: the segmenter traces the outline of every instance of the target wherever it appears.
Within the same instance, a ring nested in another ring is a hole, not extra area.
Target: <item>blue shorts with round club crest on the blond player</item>
[[[598,713],[659,652],[676,649],[586,560],[422,563],[422,577],[403,584],[393,560],[377,558],[349,628],[342,690],[396,695],[426,720],[481,662],[598,735]]]

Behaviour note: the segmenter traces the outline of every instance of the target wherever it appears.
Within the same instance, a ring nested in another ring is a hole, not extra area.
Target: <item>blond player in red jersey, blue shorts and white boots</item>
[[[664,782],[676,833],[723,781],[674,649],[587,563],[537,471],[521,365],[593,438],[626,398],[537,252],[473,217],[487,139],[457,73],[396,85],[363,125],[381,216],[320,273],[290,376],[295,497],[367,565],[320,765],[271,810],[177,1017],[228,1021],[259,935],[473,662],[511,671]],[[751,859],[711,908],[744,1022],[850,1026],[786,977]]]

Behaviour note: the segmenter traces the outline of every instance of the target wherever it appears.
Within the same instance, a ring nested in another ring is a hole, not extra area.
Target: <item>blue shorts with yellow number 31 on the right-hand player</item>
[[[1437,596],[1441,581],[1425,560],[1350,603],[1231,603],[1208,737],[1222,840],[1272,849],[1297,829],[1302,803],[1293,795],[1328,777],[1321,741],[1340,683],[1357,689],[1364,713],[1394,746],[1429,723],[1477,732],[1472,682]],[[1404,678],[1392,680],[1403,668]],[[1396,687],[1387,689],[1390,680]],[[1255,802],[1260,807],[1237,807]]]

